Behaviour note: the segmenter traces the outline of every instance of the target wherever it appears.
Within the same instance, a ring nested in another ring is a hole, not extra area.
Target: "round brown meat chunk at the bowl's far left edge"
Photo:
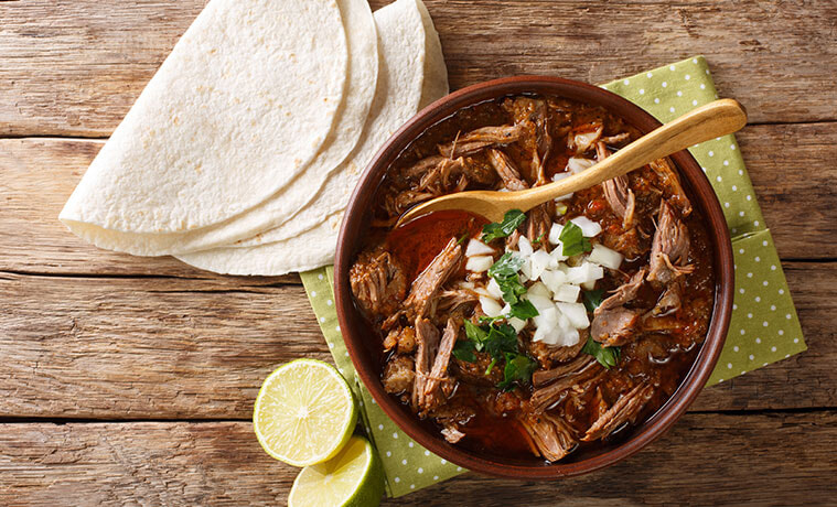
[[[372,315],[394,312],[407,291],[398,261],[382,247],[361,254],[348,271],[348,280],[355,301]]]

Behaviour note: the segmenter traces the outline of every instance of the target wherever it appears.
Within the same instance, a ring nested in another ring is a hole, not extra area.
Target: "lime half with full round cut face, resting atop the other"
[[[297,359],[265,380],[253,410],[253,427],[268,454],[293,466],[334,456],[357,421],[348,385],[333,366]]]

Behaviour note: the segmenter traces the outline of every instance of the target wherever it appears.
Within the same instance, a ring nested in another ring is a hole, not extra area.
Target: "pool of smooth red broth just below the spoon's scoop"
[[[451,238],[464,237],[463,241],[466,241],[487,223],[485,218],[468,212],[434,212],[389,231],[386,248],[404,267],[407,280],[415,280]]]

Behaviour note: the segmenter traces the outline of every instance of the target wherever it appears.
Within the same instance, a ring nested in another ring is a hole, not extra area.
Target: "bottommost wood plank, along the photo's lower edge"
[[[587,476],[465,474],[384,505],[827,505],[835,447],[834,412],[687,414],[636,456]],[[296,474],[246,422],[0,425],[3,505],[282,505]]]

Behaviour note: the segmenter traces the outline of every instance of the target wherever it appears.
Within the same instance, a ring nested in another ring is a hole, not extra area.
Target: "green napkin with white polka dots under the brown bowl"
[[[604,88],[669,121],[718,98],[702,56],[615,80]],[[800,321],[773,238],[764,225],[733,136],[689,149],[712,183],[732,233],[736,302],[727,343],[708,385],[723,381],[805,350]],[[461,472],[400,431],[355,376],[334,311],[332,267],[301,273],[311,305],[340,373],[361,404],[366,434],[380,455],[387,494],[396,497]]]

